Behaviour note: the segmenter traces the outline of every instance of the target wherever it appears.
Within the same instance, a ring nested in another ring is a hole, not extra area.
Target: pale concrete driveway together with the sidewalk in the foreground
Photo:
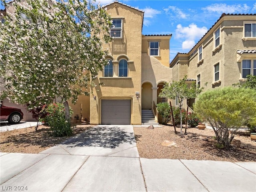
[[[256,192],[256,162],[140,158],[132,125],[95,126],[40,154],[0,153],[0,191]]]

